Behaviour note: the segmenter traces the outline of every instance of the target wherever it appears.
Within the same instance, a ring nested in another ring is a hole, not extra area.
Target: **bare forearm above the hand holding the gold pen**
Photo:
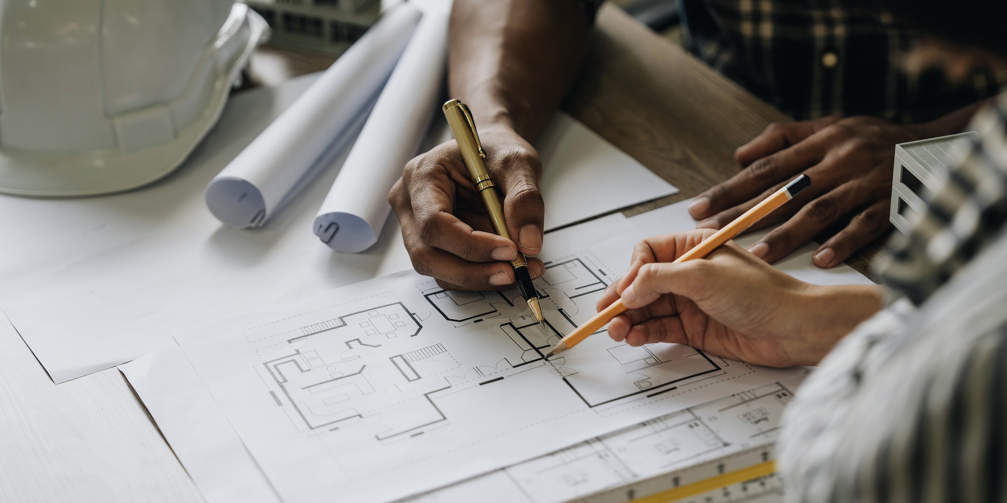
[[[542,130],[580,66],[588,22],[573,0],[455,0],[448,89],[477,127]]]

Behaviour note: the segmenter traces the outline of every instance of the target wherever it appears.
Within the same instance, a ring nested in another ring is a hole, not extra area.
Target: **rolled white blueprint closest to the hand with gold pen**
[[[388,192],[416,155],[434,112],[447,51],[447,14],[423,16],[399,64],[356,137],[314,221],[314,233],[337,252],[363,252],[378,240],[391,206]]]

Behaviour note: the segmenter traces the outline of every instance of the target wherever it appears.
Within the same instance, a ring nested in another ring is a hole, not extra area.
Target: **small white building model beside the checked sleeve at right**
[[[975,132],[941,136],[895,145],[895,169],[891,180],[891,209],[888,219],[903,233],[923,201],[937,191],[948,167],[969,151]]]

